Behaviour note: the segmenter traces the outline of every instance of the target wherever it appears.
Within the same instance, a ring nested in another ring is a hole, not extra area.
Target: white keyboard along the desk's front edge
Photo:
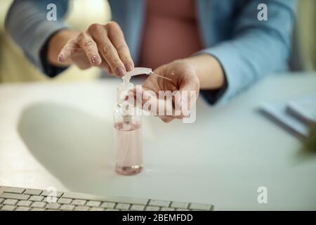
[[[52,202],[53,200],[53,202]],[[84,193],[51,192],[0,186],[0,211],[191,211],[213,210],[211,204],[182,203],[125,197],[98,197]]]

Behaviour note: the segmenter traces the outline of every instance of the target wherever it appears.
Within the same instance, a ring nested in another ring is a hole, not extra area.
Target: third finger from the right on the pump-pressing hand
[[[79,34],[78,42],[81,49],[86,53],[91,65],[100,65],[102,63],[102,59],[98,53],[98,46],[90,35],[85,32]]]

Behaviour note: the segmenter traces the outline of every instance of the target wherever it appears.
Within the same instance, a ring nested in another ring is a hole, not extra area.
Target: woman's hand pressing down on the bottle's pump
[[[76,34],[62,47],[57,60],[63,65],[74,63],[81,70],[98,66],[117,77],[134,68],[124,34],[115,22],[94,23]]]

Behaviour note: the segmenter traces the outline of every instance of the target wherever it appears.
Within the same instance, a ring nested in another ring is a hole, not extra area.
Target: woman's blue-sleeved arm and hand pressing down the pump
[[[81,70],[97,66],[110,75],[121,77],[133,70],[133,60],[117,23],[92,24],[84,32],[65,29],[46,20],[48,1],[15,0],[6,18],[6,27],[13,39],[42,72],[54,77],[75,64]],[[53,1],[60,15],[66,0]]]

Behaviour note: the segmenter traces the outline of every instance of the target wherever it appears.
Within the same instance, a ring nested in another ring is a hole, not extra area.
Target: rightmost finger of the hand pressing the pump
[[[129,51],[129,46],[127,46],[126,41],[124,39],[124,34],[121,31],[121,28],[117,23],[107,23],[105,25],[108,30],[108,36],[115,49],[117,49],[117,53],[119,54],[119,58],[124,63],[126,71],[131,71],[134,68],[134,63],[131,58],[131,53]]]

